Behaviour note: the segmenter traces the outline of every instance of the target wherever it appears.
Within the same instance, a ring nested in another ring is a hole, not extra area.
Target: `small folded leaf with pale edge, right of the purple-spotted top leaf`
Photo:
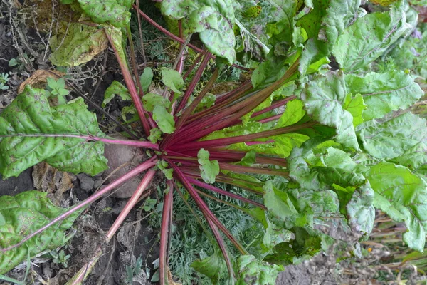
[[[242,38],[241,48],[238,48],[237,52],[243,53],[243,55],[239,55],[239,58],[244,58],[244,61],[248,61],[252,58],[256,61],[263,61],[265,56],[270,52],[270,48],[265,46],[259,38],[248,31],[237,19],[236,25],[238,26]]]

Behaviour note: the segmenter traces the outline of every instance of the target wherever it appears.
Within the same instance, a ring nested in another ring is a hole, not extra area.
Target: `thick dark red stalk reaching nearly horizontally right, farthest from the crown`
[[[273,135],[282,135],[284,133],[293,133],[297,130],[301,130],[303,128],[310,128],[312,125],[315,125],[316,122],[309,121],[302,125],[290,125],[288,127],[277,128],[274,130],[265,130],[259,133],[253,133],[250,135],[237,135],[236,137],[231,138],[218,138],[215,140],[203,140],[200,142],[190,142],[183,143],[182,145],[174,145],[171,147],[175,152],[186,151],[186,150],[199,150],[201,148],[207,147],[219,147],[219,146],[227,146],[232,145],[238,142],[248,142],[250,140],[257,140],[259,138],[269,138]]]

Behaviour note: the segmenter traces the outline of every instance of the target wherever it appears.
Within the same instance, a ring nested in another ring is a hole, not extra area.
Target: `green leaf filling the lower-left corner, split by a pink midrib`
[[[56,207],[46,196],[46,192],[27,191],[15,196],[0,196],[0,217],[6,223],[0,223],[0,247],[5,248],[21,242],[28,234],[51,222],[68,209]],[[71,214],[62,222],[53,224],[21,246],[0,254],[0,274],[13,269],[25,261],[27,256],[47,249],[55,249],[68,241],[66,230],[73,225],[81,210]]]

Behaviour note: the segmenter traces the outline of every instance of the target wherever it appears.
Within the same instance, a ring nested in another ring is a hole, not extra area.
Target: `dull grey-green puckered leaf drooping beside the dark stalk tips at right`
[[[337,129],[337,142],[359,150],[353,116],[342,107],[346,95],[343,73],[330,72],[310,81],[302,90],[301,99],[305,103],[305,110],[313,119]]]

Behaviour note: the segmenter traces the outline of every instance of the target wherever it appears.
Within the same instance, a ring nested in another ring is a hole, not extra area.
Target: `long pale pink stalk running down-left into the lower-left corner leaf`
[[[126,180],[129,180],[130,178],[134,177],[135,175],[138,175],[139,173],[149,169],[150,167],[153,167],[157,163],[157,157],[152,157],[151,159],[145,161],[141,165],[135,167],[133,170],[130,170],[130,172],[127,172],[125,175],[122,175],[121,177],[117,178],[117,180],[111,182],[109,185],[102,188],[102,190],[96,192],[94,195],[90,196],[88,199],[85,199],[80,204],[75,205],[72,209],[69,209],[67,212],[60,214],[60,216],[56,217],[55,219],[52,219],[51,222],[46,224],[45,226],[41,227],[40,229],[36,230],[36,232],[33,232],[32,234],[29,234],[27,237],[21,240],[21,242],[11,245],[10,247],[6,247],[4,249],[0,249],[0,252],[7,252],[10,249],[14,249],[15,247],[19,247],[24,242],[28,241],[28,239],[31,239],[31,237],[35,237],[37,234],[40,234],[45,229],[48,229],[48,227],[51,227],[53,224],[56,224],[59,221],[62,221],[66,217],[70,216],[70,214],[73,214],[75,211],[78,211],[79,209],[82,209],[88,204],[91,204],[96,199],[102,197],[102,195],[105,195],[105,193],[109,192],[113,188],[117,187],[118,185],[122,184]]]

